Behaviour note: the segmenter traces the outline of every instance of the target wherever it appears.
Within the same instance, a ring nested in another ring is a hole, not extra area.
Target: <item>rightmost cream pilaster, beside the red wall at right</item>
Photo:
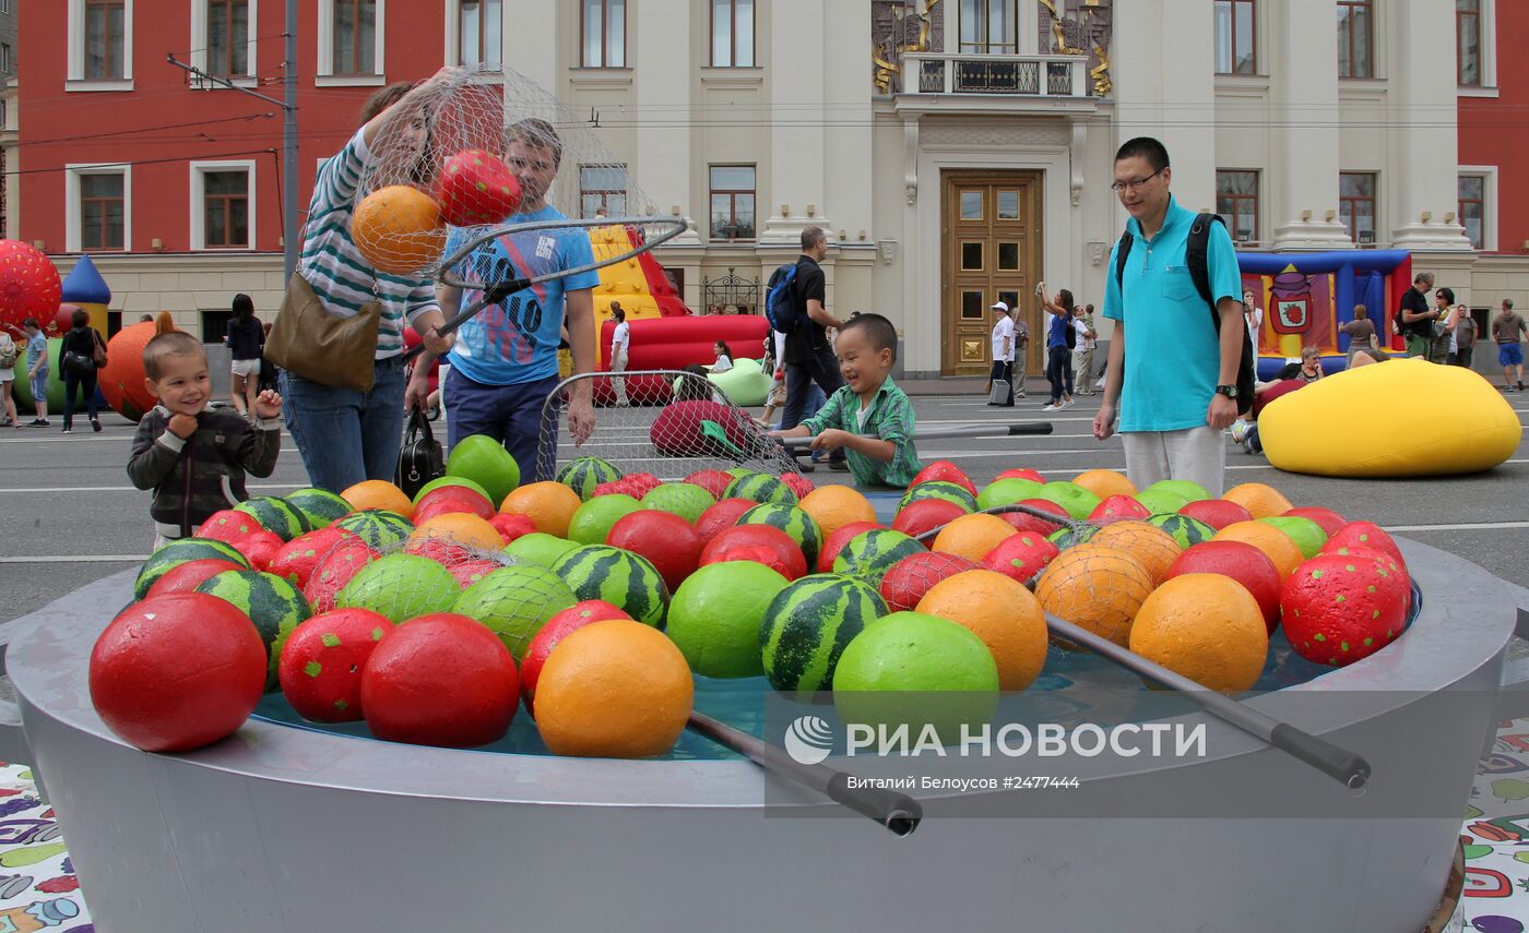
[[[1390,177],[1381,183],[1390,194],[1391,241],[1398,249],[1471,249],[1465,228],[1443,220],[1459,203],[1454,5],[1398,0],[1388,21],[1394,105],[1387,119],[1394,128]]]

